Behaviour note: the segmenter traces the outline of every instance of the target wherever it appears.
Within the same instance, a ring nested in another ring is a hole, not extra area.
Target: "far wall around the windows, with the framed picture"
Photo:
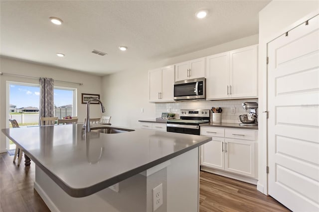
[[[53,68],[49,66],[44,66],[40,64],[28,63],[25,61],[19,61],[9,58],[0,58],[0,71],[2,73],[30,76],[30,77],[49,77],[54,80],[68,81],[68,82],[79,82],[83,83],[82,86],[72,83],[61,83],[54,82],[54,86],[66,87],[66,88],[76,88],[77,89],[77,115],[79,117],[79,122],[83,122],[84,116],[86,114],[86,109],[84,104],[81,104],[81,94],[100,94],[101,95],[101,82],[102,78],[100,76],[94,76],[89,74],[84,74],[81,72],[74,72],[70,70],[65,70],[61,68]],[[8,127],[8,109],[6,108],[6,81],[13,82],[23,82],[39,84],[38,79],[24,78],[24,77],[14,77],[2,75],[0,76],[0,128]],[[99,105],[90,106],[90,116],[99,117],[101,116],[101,109]],[[6,137],[3,133],[0,133],[0,152],[6,151]]]

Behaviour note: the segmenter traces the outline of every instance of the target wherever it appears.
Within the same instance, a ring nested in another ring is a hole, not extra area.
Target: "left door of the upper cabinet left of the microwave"
[[[160,92],[161,92],[161,70],[155,69],[149,71],[149,90],[150,102],[160,102]]]

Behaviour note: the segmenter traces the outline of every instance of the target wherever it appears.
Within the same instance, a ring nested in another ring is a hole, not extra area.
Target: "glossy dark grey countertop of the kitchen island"
[[[99,126],[110,127],[91,125]],[[211,140],[147,129],[85,134],[82,124],[7,128],[2,132],[72,197],[94,194]]]

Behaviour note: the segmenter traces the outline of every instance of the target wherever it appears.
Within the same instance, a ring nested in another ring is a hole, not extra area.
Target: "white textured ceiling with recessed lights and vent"
[[[106,75],[256,34],[258,12],[269,2],[1,0],[0,54]],[[199,9],[209,10],[205,19],[195,18]]]

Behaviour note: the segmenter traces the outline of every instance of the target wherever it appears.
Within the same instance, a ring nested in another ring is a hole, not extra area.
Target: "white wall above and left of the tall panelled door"
[[[318,0],[273,0],[259,12],[259,123],[258,123],[258,176],[257,189],[267,194],[267,143],[266,132],[266,44],[286,31],[307,20],[308,14],[319,13]],[[317,11],[317,12],[316,12]],[[302,19],[302,20],[301,20]]]

